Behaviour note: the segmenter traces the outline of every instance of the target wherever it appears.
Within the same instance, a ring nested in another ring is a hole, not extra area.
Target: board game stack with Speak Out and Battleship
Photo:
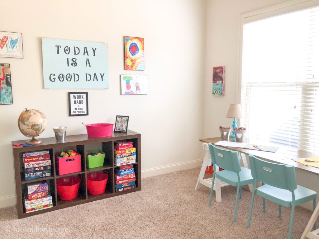
[[[48,150],[23,154],[23,164],[25,180],[51,176],[51,160]]]

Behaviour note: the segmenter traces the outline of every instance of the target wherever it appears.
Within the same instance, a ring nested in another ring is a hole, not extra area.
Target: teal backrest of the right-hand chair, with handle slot
[[[251,176],[265,184],[294,191],[297,188],[295,167],[270,163],[249,154]]]

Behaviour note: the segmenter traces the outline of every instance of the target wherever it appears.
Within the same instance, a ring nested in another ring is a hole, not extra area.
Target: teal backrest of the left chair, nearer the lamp
[[[235,173],[241,171],[237,151],[217,148],[211,143],[209,143],[208,146],[209,151],[211,153],[211,160],[214,165],[216,164],[218,167],[221,167],[222,169],[226,169],[228,171],[232,171]]]

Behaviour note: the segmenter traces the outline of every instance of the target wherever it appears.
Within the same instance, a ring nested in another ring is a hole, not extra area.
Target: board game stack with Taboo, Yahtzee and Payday
[[[39,211],[53,206],[52,196],[48,191],[48,183],[38,182],[28,184],[26,190],[26,196],[23,198],[26,213]]]

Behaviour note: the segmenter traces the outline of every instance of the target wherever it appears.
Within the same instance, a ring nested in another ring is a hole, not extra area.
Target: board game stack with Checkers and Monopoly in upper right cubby
[[[136,148],[131,141],[114,141],[114,164],[122,166],[136,162]]]

